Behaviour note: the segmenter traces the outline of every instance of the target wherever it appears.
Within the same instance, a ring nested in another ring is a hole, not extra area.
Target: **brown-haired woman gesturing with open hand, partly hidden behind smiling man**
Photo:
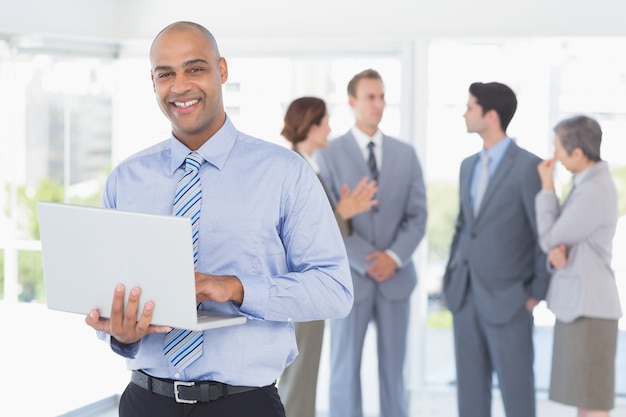
[[[330,133],[328,120],[329,115],[324,100],[318,97],[299,97],[287,107],[281,132],[291,143],[292,149],[311,165],[327,195],[328,187],[319,176],[319,166],[313,156],[317,149],[328,146]],[[376,205],[375,194],[376,181],[369,181],[367,176],[363,177],[352,191],[344,184],[341,197],[333,207],[342,236],[352,234],[350,221],[352,217]],[[330,199],[330,195],[328,198]],[[316,215],[316,213],[311,213],[311,216]],[[298,356],[280,376],[278,394],[285,404],[287,417],[315,417],[317,375],[322,354],[324,320],[295,323],[294,327]]]

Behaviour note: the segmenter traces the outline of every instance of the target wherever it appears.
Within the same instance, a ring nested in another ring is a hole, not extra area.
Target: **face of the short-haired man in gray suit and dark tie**
[[[385,110],[385,88],[381,80],[363,78],[356,85],[355,97],[349,98],[355,124],[361,130],[378,129]]]

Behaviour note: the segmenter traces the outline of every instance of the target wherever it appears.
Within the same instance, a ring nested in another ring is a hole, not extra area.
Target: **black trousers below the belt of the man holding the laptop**
[[[285,417],[275,385],[208,403],[179,404],[129,383],[119,405],[120,417]]]

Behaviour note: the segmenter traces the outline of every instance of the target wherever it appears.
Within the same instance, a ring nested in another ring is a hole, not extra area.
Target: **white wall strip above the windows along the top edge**
[[[151,39],[175,20],[218,38],[626,36],[623,0],[0,0],[0,36]]]

